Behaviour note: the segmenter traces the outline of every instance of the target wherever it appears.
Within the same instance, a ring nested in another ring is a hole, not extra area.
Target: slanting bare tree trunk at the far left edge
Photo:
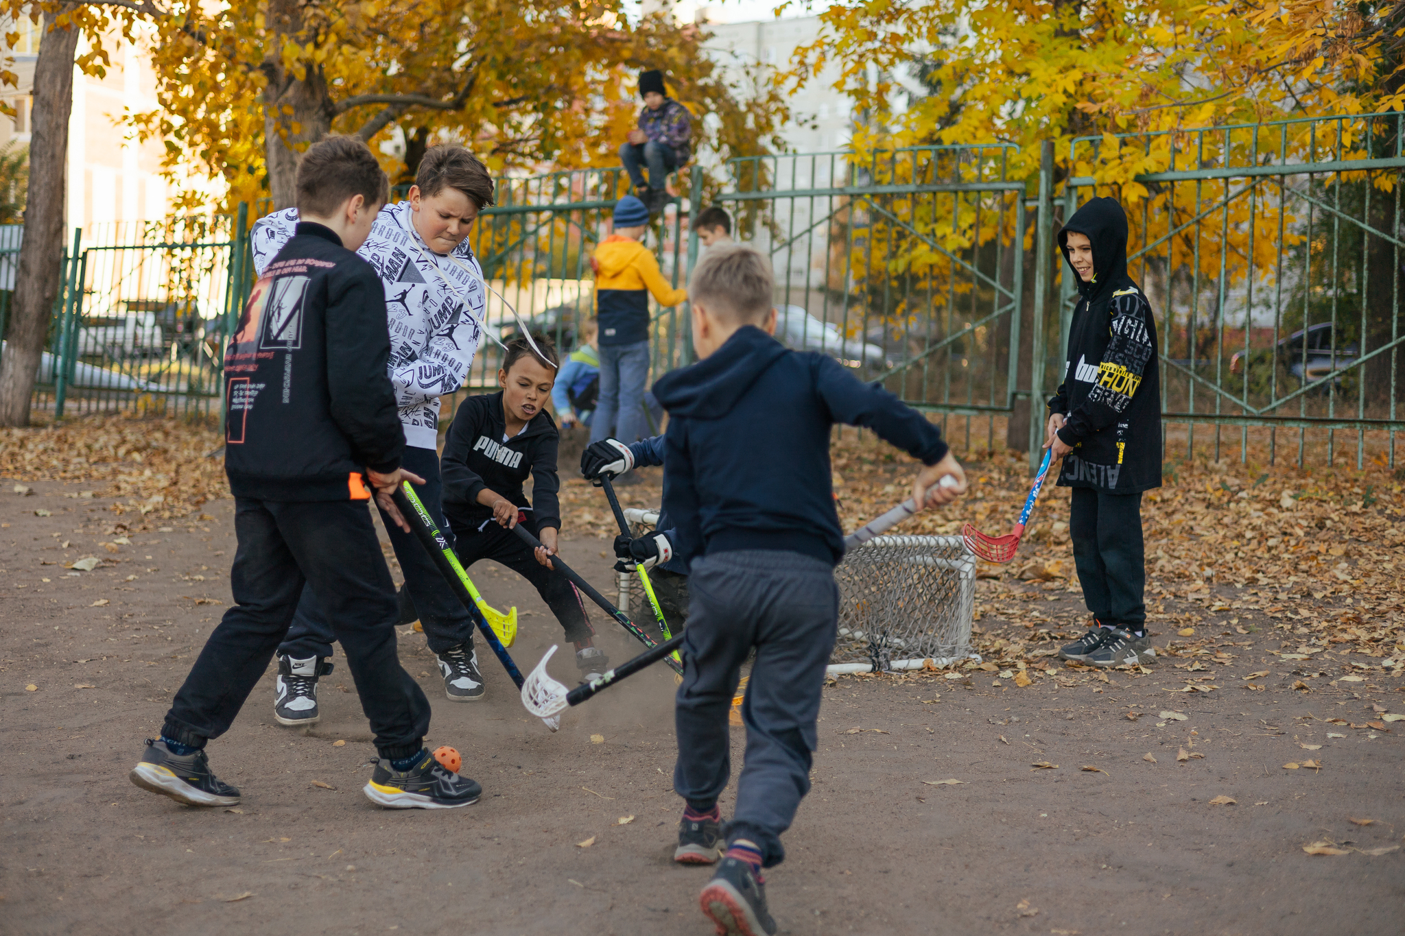
[[[62,11],[70,7],[62,7]],[[34,123],[24,241],[14,281],[10,338],[0,359],[0,425],[30,425],[34,379],[49,334],[63,260],[63,189],[73,111],[73,55],[79,28],[52,29],[59,13],[44,14],[34,66]]]

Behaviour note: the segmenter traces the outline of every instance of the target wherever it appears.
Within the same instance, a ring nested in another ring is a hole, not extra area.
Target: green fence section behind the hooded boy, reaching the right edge
[[[1128,272],[1161,330],[1168,460],[1193,457],[1208,428],[1215,460],[1253,452],[1273,463],[1286,446],[1301,466],[1314,446],[1331,464],[1354,442],[1357,467],[1368,457],[1395,464],[1395,434],[1405,429],[1397,410],[1402,119],[1073,140],[1064,216],[1093,195],[1130,206]],[[1120,156],[1166,168],[1097,182],[1090,168]],[[1075,299],[1065,275],[1064,335]]]

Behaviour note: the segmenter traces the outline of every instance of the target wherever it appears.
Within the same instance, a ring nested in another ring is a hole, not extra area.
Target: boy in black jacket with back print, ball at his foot
[[[254,286],[225,352],[225,472],[239,550],[235,606],[176,693],[131,780],[188,805],[232,805],[205,742],[229,730],[288,631],[303,584],[334,622],[381,761],[364,793],[395,808],[476,803],[481,787],[424,749],[424,693],[395,650],[398,605],[367,502],[392,519],[405,434],[386,376],[381,281],[353,250],[385,202],[365,143],[332,138],[298,166],[296,234]]]

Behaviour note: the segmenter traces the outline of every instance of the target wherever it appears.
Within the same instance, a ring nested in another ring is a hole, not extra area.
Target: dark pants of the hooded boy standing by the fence
[[[1141,494],[1075,487],[1068,533],[1087,610],[1099,623],[1142,630],[1146,626],[1146,557]]]

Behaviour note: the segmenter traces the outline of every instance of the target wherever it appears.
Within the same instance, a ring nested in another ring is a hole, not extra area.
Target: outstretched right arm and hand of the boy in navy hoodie
[[[880,439],[896,445],[926,466],[912,483],[912,497],[919,509],[950,504],[965,494],[965,472],[941,439],[941,429],[881,386],[861,383],[833,358],[816,355],[815,361],[819,368],[815,386],[836,422],[873,429]],[[937,484],[946,474],[955,477],[957,487]]]

